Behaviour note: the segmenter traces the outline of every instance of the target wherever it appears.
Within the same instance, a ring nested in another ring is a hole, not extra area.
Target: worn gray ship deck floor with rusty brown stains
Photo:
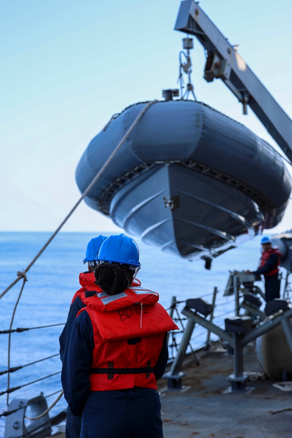
[[[245,394],[222,394],[232,373],[233,357],[209,351],[184,368],[186,392],[162,392],[162,420],[165,438],[291,438],[292,412],[271,411],[292,406],[292,392],[272,386],[271,379],[248,382],[255,389]],[[245,371],[261,371],[253,348],[247,347]],[[161,390],[165,386],[159,381]]]

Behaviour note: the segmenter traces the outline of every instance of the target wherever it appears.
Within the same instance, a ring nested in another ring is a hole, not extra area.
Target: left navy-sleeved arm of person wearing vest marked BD
[[[86,311],[74,319],[65,347],[61,381],[64,397],[71,412],[81,417],[90,382],[91,353],[94,349],[93,328]]]

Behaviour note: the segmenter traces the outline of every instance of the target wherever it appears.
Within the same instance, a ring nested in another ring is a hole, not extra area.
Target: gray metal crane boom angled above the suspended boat
[[[175,30],[197,37],[207,51],[204,79],[222,79],[243,104],[243,113],[249,105],[292,161],[292,120],[194,0],[181,2]]]

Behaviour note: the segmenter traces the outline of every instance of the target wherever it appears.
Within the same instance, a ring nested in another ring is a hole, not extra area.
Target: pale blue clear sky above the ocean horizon
[[[292,2],[202,0],[204,11],[292,117]],[[53,230],[79,197],[74,173],[84,149],[113,113],[175,88],[177,0],[4,0],[0,14],[0,230]],[[222,81],[202,78],[197,98],[275,145]],[[290,169],[291,171],[291,169]],[[277,230],[291,228],[288,206]],[[64,230],[115,230],[87,205]]]

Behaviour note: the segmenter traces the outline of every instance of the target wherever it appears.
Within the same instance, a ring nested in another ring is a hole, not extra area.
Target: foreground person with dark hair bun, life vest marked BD
[[[131,286],[140,269],[129,237],[110,236],[99,251],[95,283],[73,321],[61,381],[81,438],[162,438],[156,380],[168,360],[167,332],[177,326],[158,293]]]

